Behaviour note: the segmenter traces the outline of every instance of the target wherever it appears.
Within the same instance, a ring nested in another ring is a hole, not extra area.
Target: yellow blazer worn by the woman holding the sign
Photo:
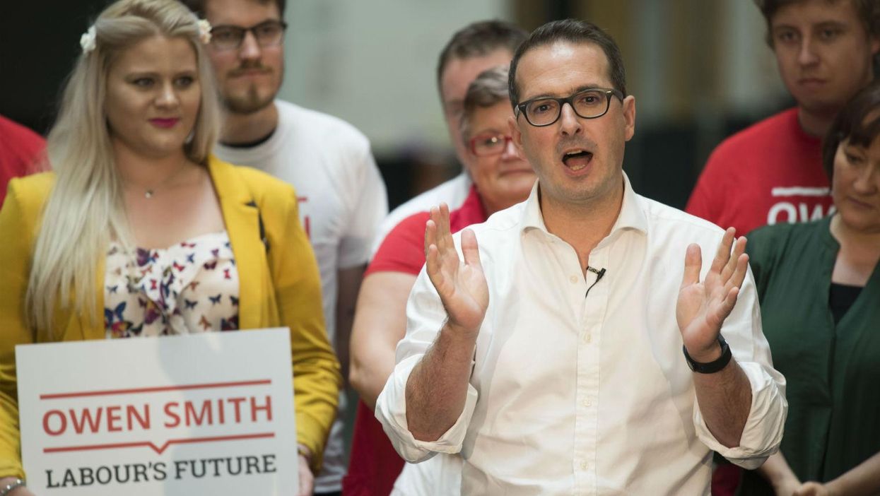
[[[336,414],[341,376],[326,337],[318,264],[299,223],[297,194],[264,172],[216,157],[209,157],[208,169],[238,266],[238,326],[290,327],[297,441],[312,451],[312,469],[317,470]],[[89,316],[77,315],[70,308],[55,311],[54,336],[48,332],[34,336],[25,325],[33,244],[43,204],[54,184],[53,172],[12,179],[0,210],[0,478],[25,475],[18,434],[15,346],[105,339],[103,323],[92,325]],[[96,315],[103,316],[103,258],[96,276]]]

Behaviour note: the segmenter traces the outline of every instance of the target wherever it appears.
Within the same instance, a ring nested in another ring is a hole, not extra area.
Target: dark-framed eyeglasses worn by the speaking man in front
[[[528,120],[532,126],[549,126],[559,120],[562,106],[568,104],[583,119],[596,119],[608,112],[612,95],[623,102],[623,93],[609,88],[590,88],[578,91],[567,98],[532,98],[517,104],[517,117],[519,113],[523,113],[525,120]]]

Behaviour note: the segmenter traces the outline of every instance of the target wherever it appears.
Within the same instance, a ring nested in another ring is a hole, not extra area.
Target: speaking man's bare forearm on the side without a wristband
[[[448,322],[407,380],[407,426],[419,441],[436,441],[465,408],[477,332]]]

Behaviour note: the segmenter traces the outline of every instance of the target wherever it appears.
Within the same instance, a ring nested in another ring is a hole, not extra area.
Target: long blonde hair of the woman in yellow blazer
[[[187,157],[205,164],[216,142],[219,104],[213,73],[200,40],[198,19],[177,0],[119,0],[95,21],[95,44],[84,50],[64,88],[47,154],[55,187],[44,207],[33,249],[26,314],[35,332],[50,332],[55,308],[101,322],[95,293],[99,260],[111,237],[128,240],[122,200],[105,113],[106,75],[128,47],[153,37],[190,41],[198,62],[202,100]]]

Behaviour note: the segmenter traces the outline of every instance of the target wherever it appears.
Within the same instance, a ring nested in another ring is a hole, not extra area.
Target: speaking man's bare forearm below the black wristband
[[[739,446],[752,409],[752,386],[736,360],[714,374],[693,374],[697,404],[709,432],[722,445]]]

